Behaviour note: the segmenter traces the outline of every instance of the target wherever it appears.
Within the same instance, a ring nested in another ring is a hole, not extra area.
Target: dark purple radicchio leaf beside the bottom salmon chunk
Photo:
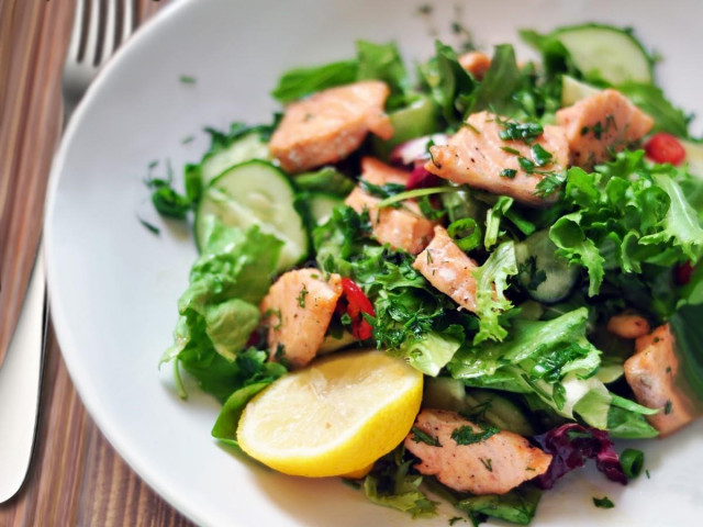
[[[554,456],[547,472],[534,480],[544,490],[551,489],[555,481],[567,472],[583,467],[587,459],[595,459],[595,467],[609,480],[627,484],[627,476],[606,431],[571,423],[534,439],[544,451]]]

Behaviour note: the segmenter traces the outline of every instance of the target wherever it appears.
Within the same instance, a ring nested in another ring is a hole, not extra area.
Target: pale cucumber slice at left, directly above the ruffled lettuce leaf
[[[274,165],[252,160],[232,167],[204,190],[196,214],[196,238],[202,238],[208,215],[232,227],[258,225],[283,242],[278,270],[287,269],[305,258],[310,249],[293,198],[292,182]]]

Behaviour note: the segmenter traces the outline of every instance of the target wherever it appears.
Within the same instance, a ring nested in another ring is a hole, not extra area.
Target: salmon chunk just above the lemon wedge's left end
[[[342,295],[342,277],[327,280],[317,269],[298,269],[281,276],[261,301],[269,326],[271,360],[284,358],[291,366],[310,362],[322,346]]]

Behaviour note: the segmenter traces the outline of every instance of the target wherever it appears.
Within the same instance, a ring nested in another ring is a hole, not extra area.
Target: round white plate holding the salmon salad
[[[52,315],[71,378],[96,422],[126,461],[171,504],[213,526],[446,526],[412,522],[366,502],[337,480],[306,481],[233,457],[211,437],[217,404],[172,389],[157,362],[170,344],[176,301],[196,256],[188,229],[160,222],[143,183],[154,159],[180,177],[198,160],[205,125],[269,122],[268,96],[286,68],[350,57],[354,41],[395,40],[405,56],[433,53],[432,30],[453,43],[455,2],[319,0],[182,1],[166,8],[110,64],[75,115],[52,176],[46,215]],[[674,7],[676,5],[676,7]],[[666,61],[673,100],[701,110],[695,36],[703,2],[509,0],[466,3],[459,21],[479,45],[516,42],[517,27],[548,30],[588,20],[632,25]],[[524,52],[524,47],[520,47]],[[179,81],[192,76],[194,85]],[[182,144],[194,134],[196,141]],[[160,222],[155,236],[137,214]],[[701,423],[641,446],[651,479],[627,487],[589,471],[546,493],[534,525],[692,525],[703,504]],[[616,507],[594,508],[592,496]],[[451,513],[447,513],[453,515]]]

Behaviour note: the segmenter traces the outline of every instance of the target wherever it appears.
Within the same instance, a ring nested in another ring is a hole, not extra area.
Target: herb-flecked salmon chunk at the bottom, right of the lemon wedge
[[[423,441],[413,430],[408,435],[405,448],[421,460],[415,468],[423,474],[436,476],[455,491],[505,494],[544,474],[551,462],[551,455],[533,447],[524,437],[506,430],[491,435],[456,412],[423,410],[417,415],[415,428],[434,442]],[[475,434],[476,442],[470,442],[469,438],[468,441],[465,439],[467,444],[459,445],[451,437],[455,430],[465,438]],[[486,436],[483,439],[481,434]]]

